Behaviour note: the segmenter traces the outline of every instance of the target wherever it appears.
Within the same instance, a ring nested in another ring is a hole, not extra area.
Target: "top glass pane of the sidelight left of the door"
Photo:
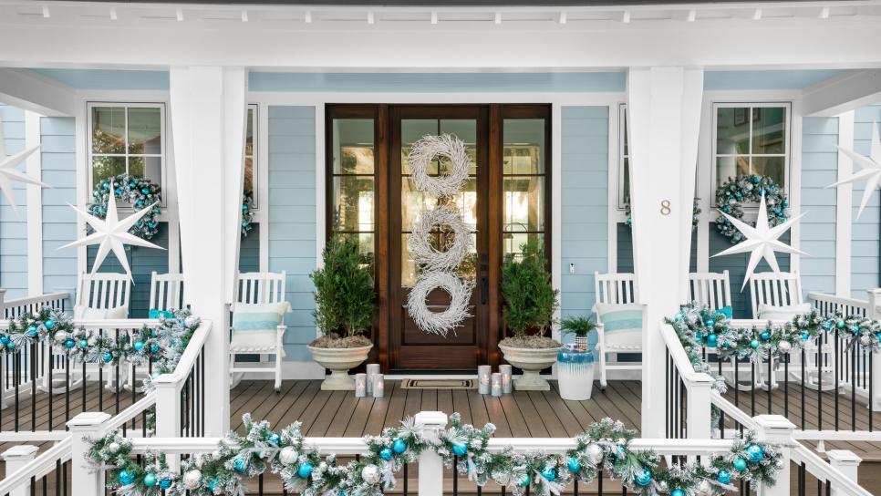
[[[373,119],[334,119],[335,174],[373,173]]]

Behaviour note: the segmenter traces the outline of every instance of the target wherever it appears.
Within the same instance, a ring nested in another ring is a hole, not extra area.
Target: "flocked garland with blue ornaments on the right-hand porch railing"
[[[715,348],[722,360],[736,357],[757,363],[768,358],[780,359],[803,349],[823,333],[837,331],[839,336],[848,338],[847,349],[859,342],[869,351],[881,350],[881,323],[858,315],[836,313],[824,317],[812,310],[783,324],[768,322],[740,328],[732,327],[726,315],[706,305],[689,304],[666,322],[679,336],[695,371],[713,377],[714,388],[720,393],[725,392],[725,381],[702,360],[704,346]]]

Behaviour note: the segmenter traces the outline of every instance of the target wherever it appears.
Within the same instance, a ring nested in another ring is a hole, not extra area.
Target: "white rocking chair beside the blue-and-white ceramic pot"
[[[635,274],[599,274],[595,272],[594,290],[596,304],[627,305],[639,302],[639,291]],[[596,304],[594,305],[594,313],[597,324],[596,350],[599,354],[599,385],[601,389],[605,389],[608,383],[606,379],[606,371],[608,369],[642,369],[642,366],[639,364],[624,365],[616,363],[615,365],[609,365],[606,353],[615,353],[617,362],[618,353],[642,353],[642,342],[640,340],[637,345],[632,339],[624,339],[622,341],[615,336],[615,333],[606,334],[599,313],[596,312]]]

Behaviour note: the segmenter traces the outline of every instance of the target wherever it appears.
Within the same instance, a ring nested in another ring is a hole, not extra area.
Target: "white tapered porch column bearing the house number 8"
[[[631,209],[643,333],[642,435],[664,437],[665,316],[686,299],[703,70],[631,67],[627,75]]]

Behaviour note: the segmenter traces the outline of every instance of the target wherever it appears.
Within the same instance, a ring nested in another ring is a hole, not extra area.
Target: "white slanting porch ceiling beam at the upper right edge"
[[[831,117],[881,102],[881,69],[847,71],[804,88],[804,115]]]

